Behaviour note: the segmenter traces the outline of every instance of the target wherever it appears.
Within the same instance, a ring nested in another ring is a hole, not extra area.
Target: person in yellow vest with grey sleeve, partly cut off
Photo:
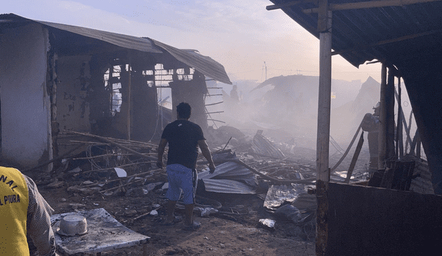
[[[0,255],[29,255],[28,234],[39,255],[57,256],[50,226],[53,211],[30,177],[0,166]]]

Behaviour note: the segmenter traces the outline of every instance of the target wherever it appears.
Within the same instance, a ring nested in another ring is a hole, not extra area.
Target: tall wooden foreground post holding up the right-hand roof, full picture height
[[[332,99],[332,12],[328,1],[319,1],[319,94],[318,131],[316,137],[316,255],[327,254],[329,186],[330,104]]]

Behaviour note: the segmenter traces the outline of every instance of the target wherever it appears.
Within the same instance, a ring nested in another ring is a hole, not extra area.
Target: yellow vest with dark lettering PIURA
[[[0,166],[0,255],[29,255],[26,221],[29,194],[15,168]]]

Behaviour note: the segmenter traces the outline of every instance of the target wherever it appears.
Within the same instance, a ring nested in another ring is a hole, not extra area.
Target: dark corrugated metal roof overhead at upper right
[[[293,0],[270,0],[275,4]],[[318,14],[306,13],[318,8],[315,1],[281,8],[312,35],[319,38]],[[317,1],[316,1],[317,2]],[[440,52],[442,37],[442,1],[372,1],[392,6],[336,10],[345,3],[367,0],[329,0],[333,12],[332,49],[352,65],[378,59],[394,65],[422,59]],[[372,3],[370,3],[372,4]],[[403,6],[400,6],[403,4]]]

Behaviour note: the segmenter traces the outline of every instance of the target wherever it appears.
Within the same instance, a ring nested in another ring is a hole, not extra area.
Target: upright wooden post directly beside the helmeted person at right
[[[381,127],[379,128],[379,158],[378,158],[378,169],[384,168],[384,161],[387,152],[387,111],[385,109],[385,89],[387,87],[387,66],[382,63],[381,69],[381,99],[379,101],[379,121],[381,122]]]

